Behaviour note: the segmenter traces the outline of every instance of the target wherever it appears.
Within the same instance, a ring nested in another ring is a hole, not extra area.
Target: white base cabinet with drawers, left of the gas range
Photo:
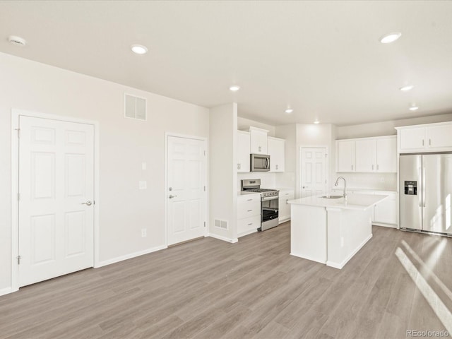
[[[237,196],[237,237],[257,232],[261,227],[261,194]]]

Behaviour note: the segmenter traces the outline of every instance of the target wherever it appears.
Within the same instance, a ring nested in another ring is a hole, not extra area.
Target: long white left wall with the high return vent
[[[0,74],[0,290],[11,285],[12,108],[99,121],[100,261],[164,246],[165,132],[208,137],[209,110],[2,53]],[[148,121],[124,119],[124,92],[148,100]]]

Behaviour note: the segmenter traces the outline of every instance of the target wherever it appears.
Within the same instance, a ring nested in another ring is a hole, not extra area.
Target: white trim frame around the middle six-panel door
[[[209,229],[209,209],[208,209],[208,201],[209,201],[209,181],[208,181],[208,172],[209,172],[209,153],[208,153],[208,138],[205,138],[203,136],[189,136],[186,134],[180,134],[180,133],[172,133],[172,132],[165,132],[165,188],[163,191],[163,199],[165,201],[165,246],[168,246],[168,199],[167,199],[167,191],[168,191],[168,138],[169,137],[176,137],[176,138],[184,138],[184,139],[194,139],[203,141],[204,147],[206,148],[206,166],[204,167],[204,180],[206,182],[206,201],[204,202],[204,210],[206,211],[205,220],[206,220],[206,227],[204,227],[204,237],[208,236],[208,229]]]

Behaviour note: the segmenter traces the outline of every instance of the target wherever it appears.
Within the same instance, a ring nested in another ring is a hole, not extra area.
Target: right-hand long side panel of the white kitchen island
[[[343,268],[372,237],[371,208],[345,210],[327,208],[328,261],[327,266]]]

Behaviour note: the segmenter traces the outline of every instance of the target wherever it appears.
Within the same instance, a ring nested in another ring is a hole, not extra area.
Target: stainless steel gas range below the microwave
[[[276,189],[261,189],[261,179],[243,179],[242,191],[261,194],[261,227],[265,231],[278,226],[278,204],[280,191]]]

